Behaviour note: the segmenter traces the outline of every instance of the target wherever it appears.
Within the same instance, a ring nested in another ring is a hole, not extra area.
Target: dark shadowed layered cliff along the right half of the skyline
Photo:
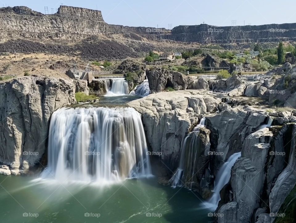
[[[261,26],[177,26],[162,38],[183,42],[234,43],[296,40],[296,23]]]

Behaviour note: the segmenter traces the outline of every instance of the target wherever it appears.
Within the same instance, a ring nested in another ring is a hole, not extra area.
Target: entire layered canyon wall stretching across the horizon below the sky
[[[296,41],[296,23],[261,26],[177,26],[172,30],[153,27],[109,25],[101,11],[60,6],[45,15],[25,6],[0,8],[0,42],[10,38],[75,42],[91,35],[136,33],[151,40],[169,39],[200,43]]]

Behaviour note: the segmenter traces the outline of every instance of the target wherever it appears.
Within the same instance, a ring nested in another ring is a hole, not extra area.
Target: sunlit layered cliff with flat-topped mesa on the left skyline
[[[101,11],[72,6],[60,6],[57,13],[50,15],[25,6],[0,9],[0,42],[19,37],[73,42],[100,34],[147,34],[147,29],[153,30],[146,27],[109,25],[104,22]]]

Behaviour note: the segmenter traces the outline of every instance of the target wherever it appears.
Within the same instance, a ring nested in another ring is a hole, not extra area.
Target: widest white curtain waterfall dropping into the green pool
[[[62,108],[52,114],[42,177],[100,184],[151,175],[140,114],[133,108]]]

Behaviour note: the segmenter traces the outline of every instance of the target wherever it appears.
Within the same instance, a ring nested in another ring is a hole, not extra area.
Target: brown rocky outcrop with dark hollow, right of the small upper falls
[[[154,70],[147,69],[146,76],[151,93],[161,92],[167,87],[171,87],[174,90],[186,90],[192,82],[190,76],[160,68]]]

